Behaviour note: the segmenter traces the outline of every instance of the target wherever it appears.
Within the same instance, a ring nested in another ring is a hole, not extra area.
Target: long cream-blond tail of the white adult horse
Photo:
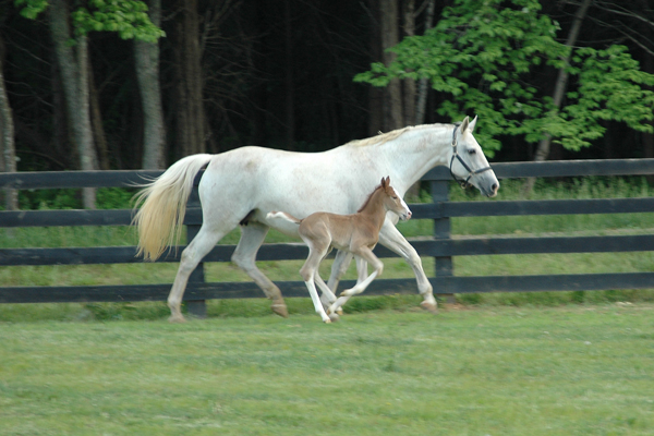
[[[193,180],[211,157],[192,155],[178,160],[134,196],[134,208],[141,205],[132,220],[138,229],[137,256],[156,261],[168,245],[179,242]]]

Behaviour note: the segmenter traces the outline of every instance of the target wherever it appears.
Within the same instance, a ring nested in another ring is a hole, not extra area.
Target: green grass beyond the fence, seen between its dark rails
[[[452,184],[450,198],[452,201],[508,201],[522,199],[521,182],[502,181],[502,186],[496,199],[482,197],[476,190],[463,191]],[[109,195],[111,194],[111,195]],[[653,190],[644,179],[605,179],[588,178],[568,182],[540,182],[531,199],[568,199],[568,198],[611,198],[642,197],[653,195]],[[129,199],[117,191],[105,193],[107,202],[116,207],[126,207]],[[68,198],[68,197],[65,197]],[[126,199],[125,199],[126,198]],[[428,195],[423,193],[420,201],[427,202]],[[122,203],[121,203],[122,202]],[[61,202],[60,202],[61,203]],[[531,216],[531,217],[482,217],[455,218],[451,220],[452,237],[467,238],[473,235],[594,235],[594,234],[639,234],[654,231],[654,214],[615,214],[615,215],[567,215],[567,216]],[[410,220],[398,225],[400,231],[408,238],[428,237],[433,232],[431,220]],[[221,243],[234,244],[240,231],[235,229]],[[270,231],[266,242],[286,242],[291,239]],[[184,243],[184,241],[182,241]],[[68,246],[116,246],[135,245],[134,229],[125,227],[78,227],[78,228],[23,228],[0,229],[0,247],[68,247]],[[593,253],[593,254],[538,254],[538,255],[497,255],[497,256],[460,256],[455,257],[455,272],[458,276],[483,275],[522,275],[522,274],[584,274],[584,272],[633,272],[652,271],[654,253]],[[401,259],[384,261],[384,278],[411,278],[413,274]],[[322,266],[323,277],[329,274],[331,261]],[[261,262],[259,268],[272,280],[299,280],[301,261],[293,262]],[[427,275],[434,275],[434,261],[424,258],[423,265]],[[177,272],[177,264],[131,264],[131,265],[81,265],[81,266],[22,266],[0,269],[0,282],[3,286],[83,286],[83,284],[143,284],[172,282]],[[208,281],[249,281],[250,278],[230,263],[205,264]],[[350,267],[346,278],[355,278],[354,266]],[[283,290],[282,290],[283,292]],[[354,303],[356,300],[360,303]],[[461,294],[458,300],[465,304],[536,304],[557,305],[572,302],[611,302],[611,301],[654,301],[654,293],[649,290],[619,290],[608,292],[558,292],[558,293],[512,293],[512,294]],[[222,303],[221,303],[222,304]],[[266,303],[249,303],[258,307]],[[387,306],[384,299],[353,299],[349,305],[359,304],[358,310],[365,306]],[[32,305],[31,305],[32,306]],[[392,306],[392,304],[391,304]],[[88,312],[86,305],[77,307],[73,318],[84,317]],[[95,305],[93,307],[98,307]],[[105,307],[105,306],[101,306]],[[118,307],[123,307],[119,305]],[[133,313],[141,307],[144,318],[150,318],[148,304],[132,306]],[[247,312],[244,307],[243,310]],[[17,310],[16,310],[17,311]],[[13,308],[0,305],[0,319],[7,318]],[[41,313],[39,308],[23,306],[25,316],[31,317],[29,311]],[[92,312],[95,314],[95,308]],[[102,308],[99,315],[104,318]],[[157,310],[158,311],[158,310]],[[155,312],[157,312],[155,311]],[[20,312],[20,311],[17,311]],[[50,311],[44,311],[50,313]],[[165,310],[162,312],[166,312]],[[218,311],[222,314],[222,311]],[[240,313],[237,313],[239,315]],[[13,315],[12,315],[13,316]],[[61,318],[69,318],[66,310]]]

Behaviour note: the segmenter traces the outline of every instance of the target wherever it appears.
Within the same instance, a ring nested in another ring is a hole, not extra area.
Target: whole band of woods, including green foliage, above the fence
[[[533,159],[546,137],[556,159],[654,157],[649,3],[0,0],[0,110],[13,118],[19,170],[81,168],[50,32],[57,4],[68,47],[87,52],[73,60],[97,168],[250,144],[318,152],[475,114],[496,160]],[[148,159],[148,147],[160,153]]]

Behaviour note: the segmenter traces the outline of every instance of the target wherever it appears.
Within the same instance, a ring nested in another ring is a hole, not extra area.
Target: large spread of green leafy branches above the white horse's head
[[[425,35],[391,48],[397,59],[390,65],[374,63],[354,80],[386,86],[396,77],[428,78],[432,88],[449,96],[437,108],[440,116],[480,116],[475,133],[489,156],[501,146],[499,135],[535,143],[548,134],[577,150],[602,136],[602,120],[651,131],[644,121],[652,119],[654,93],[643,86],[654,83],[654,75],[639,71],[622,46],[577,49],[567,66],[573,92],[557,110],[533,71],[564,66],[570,49],[557,41],[559,26],[540,13],[537,0],[507,3],[457,0]]]

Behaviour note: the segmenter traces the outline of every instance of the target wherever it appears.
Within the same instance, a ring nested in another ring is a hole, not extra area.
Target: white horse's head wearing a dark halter
[[[494,197],[497,195],[499,182],[482,147],[472,135],[476,120],[475,117],[471,122],[465,117],[461,125],[455,128],[449,168],[452,178],[462,187],[473,185],[487,197]]]

